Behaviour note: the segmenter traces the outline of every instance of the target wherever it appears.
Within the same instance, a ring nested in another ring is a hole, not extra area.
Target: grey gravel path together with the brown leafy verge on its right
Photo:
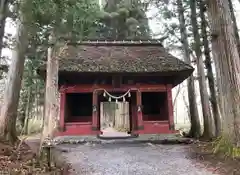
[[[65,144],[60,148],[72,165],[71,174],[240,175],[240,160],[213,154],[209,145]]]

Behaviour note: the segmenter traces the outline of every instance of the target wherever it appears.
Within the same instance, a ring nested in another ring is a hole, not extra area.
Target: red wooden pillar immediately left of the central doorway
[[[96,132],[99,131],[98,127],[98,100],[97,100],[97,91],[93,91],[93,106],[92,106],[92,131]]]

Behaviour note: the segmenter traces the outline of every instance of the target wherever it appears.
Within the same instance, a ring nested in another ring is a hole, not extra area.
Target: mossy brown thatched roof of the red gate
[[[182,74],[183,81],[193,67],[169,54],[158,40],[83,41],[67,45],[59,59],[59,72],[174,73]]]

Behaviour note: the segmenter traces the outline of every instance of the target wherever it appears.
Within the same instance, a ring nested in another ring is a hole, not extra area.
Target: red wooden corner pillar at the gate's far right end
[[[173,104],[172,104],[172,85],[167,85],[167,105],[168,105],[168,120],[170,130],[175,130],[174,128],[174,116],[173,116]]]

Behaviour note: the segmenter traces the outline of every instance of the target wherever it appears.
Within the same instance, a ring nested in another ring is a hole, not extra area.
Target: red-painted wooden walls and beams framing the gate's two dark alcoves
[[[78,123],[65,123],[64,115],[65,115],[65,101],[66,101],[66,93],[84,93],[84,92],[93,92],[93,105],[97,105],[97,92],[102,91],[103,89],[108,92],[126,92],[129,89],[131,91],[137,92],[137,105],[132,109],[132,116],[134,113],[137,113],[136,118],[132,118],[133,125],[132,126],[134,133],[138,134],[157,134],[157,133],[172,133],[173,131],[169,130],[170,125],[173,124],[173,107],[172,107],[172,93],[171,93],[171,85],[146,85],[146,84],[138,84],[138,85],[122,85],[121,88],[113,88],[109,85],[75,85],[75,86],[61,86],[61,102],[60,102],[60,127],[65,128],[64,131],[60,131],[56,133],[56,135],[96,135],[99,134],[100,131],[96,130],[99,127],[99,117],[98,110],[93,112],[92,122],[78,122]],[[137,107],[141,106],[141,92],[167,92],[168,93],[168,114],[169,120],[166,122],[144,122],[142,120],[142,112],[137,111]],[[95,130],[93,130],[95,128]],[[136,130],[136,128],[138,128]]]

